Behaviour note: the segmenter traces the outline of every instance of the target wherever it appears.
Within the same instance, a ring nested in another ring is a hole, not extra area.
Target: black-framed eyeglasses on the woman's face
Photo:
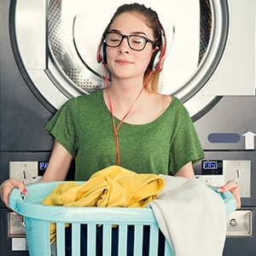
[[[107,32],[104,42],[109,47],[119,47],[124,38],[127,38],[129,47],[134,50],[143,50],[147,43],[151,43],[155,47],[155,42],[148,38],[139,35],[122,35],[119,32]]]

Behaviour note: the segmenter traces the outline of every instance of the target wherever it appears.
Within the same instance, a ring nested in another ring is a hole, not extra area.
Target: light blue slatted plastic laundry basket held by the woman
[[[143,251],[143,226],[150,226],[149,256],[156,256],[159,246],[159,227],[151,208],[125,207],[56,207],[44,206],[41,201],[63,182],[32,183],[26,186],[28,195],[14,189],[9,206],[24,216],[26,239],[30,256],[50,256],[49,223],[56,224],[56,252],[65,255],[65,224],[72,224],[72,255],[80,255],[81,224],[87,224],[87,255],[96,255],[96,227],[102,225],[102,255],[111,256],[111,233],[119,226],[118,255],[127,255],[127,230],[134,225],[134,256]],[[229,214],[236,209],[236,201],[229,193],[221,194]],[[172,256],[172,248],[165,241],[165,255]],[[127,255],[130,256],[130,255]]]

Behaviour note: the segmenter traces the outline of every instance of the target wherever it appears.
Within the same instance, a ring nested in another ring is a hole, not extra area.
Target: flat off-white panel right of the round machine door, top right
[[[229,28],[223,56],[218,63],[217,73],[212,75],[202,94],[254,96],[256,2],[254,0],[228,2]]]

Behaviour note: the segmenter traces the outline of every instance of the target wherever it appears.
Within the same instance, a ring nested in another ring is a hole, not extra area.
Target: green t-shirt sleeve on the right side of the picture
[[[175,136],[172,139],[170,150],[170,168],[173,175],[189,163],[195,163],[204,158],[195,126],[186,108],[181,108],[177,114]]]

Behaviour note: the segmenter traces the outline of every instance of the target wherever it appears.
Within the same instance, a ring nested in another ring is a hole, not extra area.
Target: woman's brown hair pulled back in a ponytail
[[[159,17],[157,13],[151,9],[145,7],[143,4],[139,3],[125,3],[116,10],[114,13],[112,19],[108,23],[108,26],[105,30],[105,32],[108,32],[109,27],[112,25],[113,20],[124,13],[135,13],[138,15],[142,15],[145,19],[145,22],[148,27],[150,27],[153,31],[154,35],[154,41],[155,41],[155,46],[162,51],[163,49],[163,35],[162,35],[162,28],[160,24]],[[151,61],[150,61],[151,62]],[[152,71],[152,63],[149,63],[145,73],[144,73],[144,79],[147,79],[148,74]],[[146,85],[146,89],[149,92],[157,92],[158,90],[158,85],[159,85],[159,79],[160,79],[160,71],[154,71],[152,74],[151,78],[148,80],[148,83]]]

